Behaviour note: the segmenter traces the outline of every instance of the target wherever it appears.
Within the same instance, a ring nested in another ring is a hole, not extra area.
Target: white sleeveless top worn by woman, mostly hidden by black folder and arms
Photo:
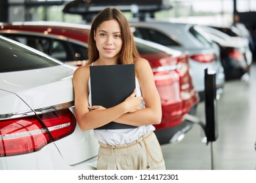
[[[93,63],[92,63],[93,66]],[[141,96],[140,91],[140,84],[137,77],[135,77],[136,82],[136,91],[137,96]],[[89,78],[88,82],[89,87],[89,105],[91,106],[91,78]],[[140,106],[140,108],[144,108],[144,103]],[[136,141],[142,135],[148,133],[148,131],[154,131],[155,127],[153,125],[142,125],[136,128],[131,129],[94,129],[95,137],[98,141],[104,144],[110,145],[118,145],[118,144],[125,144],[129,142]]]

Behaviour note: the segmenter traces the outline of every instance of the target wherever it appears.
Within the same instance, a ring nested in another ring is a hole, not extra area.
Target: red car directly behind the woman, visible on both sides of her
[[[86,63],[90,25],[64,22],[16,22],[0,25],[0,34],[67,63]],[[155,125],[161,144],[178,141],[192,127],[184,120],[199,101],[189,72],[188,56],[135,37],[142,58],[150,62],[161,97],[162,121]]]

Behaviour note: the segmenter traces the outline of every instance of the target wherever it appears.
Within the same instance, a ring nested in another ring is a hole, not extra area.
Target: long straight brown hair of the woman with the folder
[[[88,64],[93,63],[96,59],[99,58],[98,49],[96,48],[96,42],[94,40],[94,31],[102,22],[108,20],[116,20],[121,29],[121,39],[123,45],[121,51],[119,52],[118,64],[131,64],[134,63],[134,60],[139,58],[139,52],[137,51],[135,41],[133,39],[133,33],[129,22],[125,18],[124,14],[117,8],[104,8],[95,18],[93,24],[91,25],[91,30],[88,40],[89,48],[89,62]]]

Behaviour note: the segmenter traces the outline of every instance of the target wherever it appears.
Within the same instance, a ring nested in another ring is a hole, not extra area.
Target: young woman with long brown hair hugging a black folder
[[[135,64],[135,91],[114,107],[91,106],[89,67],[117,64]],[[152,125],[161,122],[160,96],[152,69],[140,58],[120,10],[105,8],[96,16],[89,35],[89,63],[75,71],[73,82],[78,125],[83,131],[94,129],[100,144],[97,169],[165,169]],[[112,121],[137,127],[96,129]]]

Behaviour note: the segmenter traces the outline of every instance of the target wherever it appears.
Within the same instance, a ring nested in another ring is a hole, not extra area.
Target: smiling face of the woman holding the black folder
[[[117,61],[123,42],[118,22],[116,20],[102,22],[96,29],[95,41],[100,59]]]

